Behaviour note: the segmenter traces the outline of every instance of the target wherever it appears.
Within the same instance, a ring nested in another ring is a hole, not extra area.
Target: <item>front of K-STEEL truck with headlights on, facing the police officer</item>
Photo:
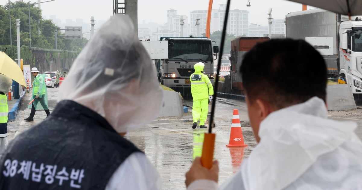
[[[195,72],[194,65],[205,64],[204,72],[214,82],[214,61],[219,47],[212,46],[209,38],[199,37],[161,37],[168,43],[168,59],[155,60],[161,84],[183,95],[191,91],[190,75]]]

